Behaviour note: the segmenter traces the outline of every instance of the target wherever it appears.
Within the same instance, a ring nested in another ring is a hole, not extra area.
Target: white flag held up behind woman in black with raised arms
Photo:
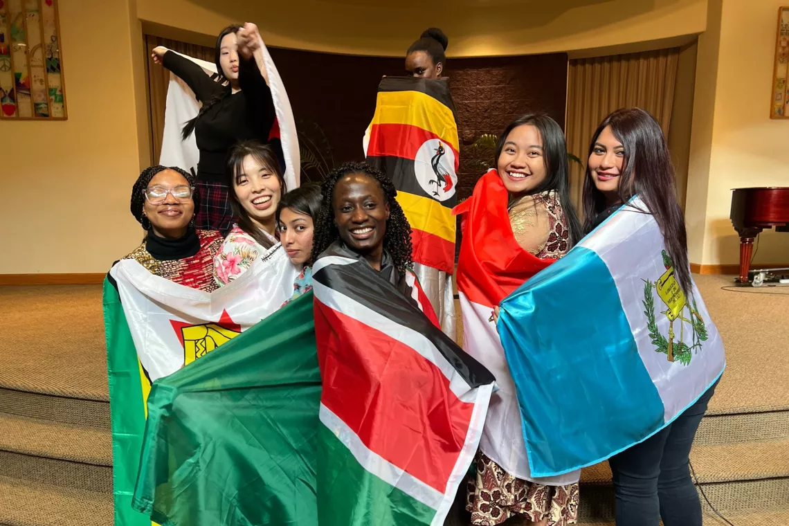
[[[271,99],[277,118],[271,129],[270,139],[279,138],[282,144],[282,154],[285,157],[285,182],[287,188],[297,188],[301,170],[301,155],[299,154],[296,121],[293,110],[290,108],[290,99],[282,84],[271,54],[260,39],[260,48],[263,50],[264,65],[271,89]],[[180,53],[179,53],[180,54]],[[198,58],[187,57],[203,68],[208,76],[216,75],[216,65]],[[164,132],[162,139],[162,153],[159,155],[159,164],[164,166],[178,166],[186,171],[196,173],[200,152],[197,150],[195,134],[181,140],[181,128],[184,123],[191,121],[200,111],[200,103],[183,80],[174,73],[170,73],[170,84],[167,86],[166,105],[164,110]]]

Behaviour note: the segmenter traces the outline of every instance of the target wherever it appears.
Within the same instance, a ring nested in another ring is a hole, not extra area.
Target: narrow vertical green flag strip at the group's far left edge
[[[118,290],[104,279],[104,333],[112,419],[112,479],[115,526],[151,526],[151,519],[132,508],[140,463],[145,407],[140,366],[126,325]]]

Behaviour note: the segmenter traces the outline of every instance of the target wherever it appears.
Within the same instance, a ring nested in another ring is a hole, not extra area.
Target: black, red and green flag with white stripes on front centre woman
[[[320,524],[443,524],[477,451],[493,376],[338,244],[312,280]]]

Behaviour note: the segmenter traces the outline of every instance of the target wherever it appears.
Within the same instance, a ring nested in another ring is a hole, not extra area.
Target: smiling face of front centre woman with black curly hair
[[[389,204],[378,181],[365,173],[349,173],[335,185],[331,205],[342,241],[380,270]]]

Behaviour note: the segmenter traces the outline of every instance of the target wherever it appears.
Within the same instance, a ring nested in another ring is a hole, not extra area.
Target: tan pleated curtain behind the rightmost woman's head
[[[583,167],[570,162],[570,196],[581,211],[581,190],[589,140],[613,110],[638,106],[660,122],[668,136],[679,47],[643,53],[570,60],[567,77],[567,150]]]

